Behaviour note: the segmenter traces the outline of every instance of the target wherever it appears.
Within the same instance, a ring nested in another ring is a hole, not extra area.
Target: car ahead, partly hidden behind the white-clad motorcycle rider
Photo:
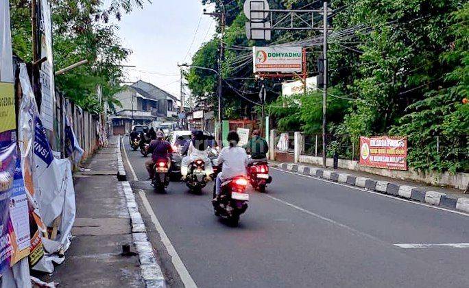
[[[186,141],[189,141],[191,139],[191,136],[192,132],[190,130],[178,130],[170,132],[169,136],[167,137],[167,141],[169,142],[169,144],[171,144],[171,147],[173,149],[173,157],[171,159],[170,172],[172,176],[171,178],[173,178],[174,180],[178,180],[181,177],[181,161],[182,158],[184,158],[184,156],[182,155],[182,148],[184,147]],[[204,136],[206,140],[213,141],[211,152],[208,157],[211,158],[213,168],[215,169],[215,166],[217,165],[216,162],[218,158],[219,147],[217,146],[213,133],[204,131]]]

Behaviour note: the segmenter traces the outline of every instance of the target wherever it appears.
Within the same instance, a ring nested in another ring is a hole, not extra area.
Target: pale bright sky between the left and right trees
[[[116,23],[123,47],[132,50],[126,81],[143,80],[180,97],[178,63],[191,62],[193,53],[215,34],[215,20],[203,15],[200,0],[152,0]],[[200,21],[200,23],[199,23]],[[199,26],[197,29],[197,25]]]

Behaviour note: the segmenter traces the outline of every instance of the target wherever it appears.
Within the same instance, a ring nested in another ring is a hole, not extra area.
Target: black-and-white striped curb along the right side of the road
[[[339,173],[336,171],[330,171],[306,165],[280,163],[278,164],[278,168],[330,180],[333,182],[349,184],[387,195],[394,195],[396,197],[402,197],[409,200],[415,200],[418,202],[424,202],[435,206],[441,206],[444,208],[450,208],[469,213],[469,198],[465,197],[454,198],[446,195],[445,193],[439,193],[437,191],[426,191],[413,186],[400,185],[365,177],[357,177],[348,173]]]

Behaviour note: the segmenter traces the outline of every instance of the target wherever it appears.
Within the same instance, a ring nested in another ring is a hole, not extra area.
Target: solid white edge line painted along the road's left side
[[[122,145],[123,145],[123,141],[122,141]],[[132,167],[132,164],[130,163],[129,158],[127,156],[127,150],[125,150],[125,146],[122,146],[122,147],[124,148],[125,160],[127,161],[127,164],[130,167],[130,171],[132,172],[132,177],[134,178],[135,181],[138,181],[139,178],[137,178],[134,168]],[[195,282],[193,278],[191,277],[191,274],[189,274],[189,271],[187,270],[186,266],[184,265],[184,263],[182,263],[182,260],[180,256],[178,255],[178,252],[176,252],[176,249],[174,249],[174,246],[169,240],[169,237],[166,235],[166,232],[163,229],[163,226],[161,226],[160,221],[158,221],[158,217],[156,217],[152,209],[152,206],[148,202],[147,195],[145,195],[145,192],[141,189],[139,189],[139,195],[143,202],[143,206],[145,206],[145,210],[149,214],[150,219],[152,219],[152,223],[156,228],[156,232],[158,232],[158,235],[160,236],[161,242],[163,243],[163,245],[165,245],[165,248],[169,256],[171,256],[171,262],[173,263],[174,268],[178,272],[179,277],[181,278],[181,281],[184,284],[184,287],[197,288],[197,285],[195,285]]]

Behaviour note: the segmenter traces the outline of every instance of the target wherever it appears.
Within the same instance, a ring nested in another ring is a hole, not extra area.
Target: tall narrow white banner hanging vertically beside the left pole
[[[40,0],[40,58],[47,57],[39,71],[40,93],[40,118],[44,128],[53,130],[53,101],[56,95],[53,53],[52,53],[52,26],[51,10],[48,0]]]

